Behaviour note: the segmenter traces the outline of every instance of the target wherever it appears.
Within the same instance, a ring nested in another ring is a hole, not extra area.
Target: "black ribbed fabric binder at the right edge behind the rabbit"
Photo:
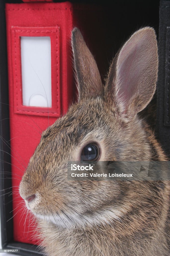
[[[170,1],[160,1],[158,54],[156,130],[163,149],[170,156]]]

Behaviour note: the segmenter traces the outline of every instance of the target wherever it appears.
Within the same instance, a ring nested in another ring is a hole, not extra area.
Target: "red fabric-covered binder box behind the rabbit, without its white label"
[[[69,104],[76,98],[70,44],[72,28],[78,26],[82,30],[88,46],[95,52],[99,69],[101,66],[105,68],[103,56],[110,59],[103,50],[109,48],[109,40],[106,40],[109,33],[106,16],[102,12],[100,7],[73,5],[70,2],[6,4],[15,241],[39,244],[35,223],[23,209],[24,201],[19,196],[18,186],[40,141],[41,130],[66,113]],[[27,33],[30,36],[36,33],[38,36],[41,33],[51,35],[52,109],[49,109],[49,115],[47,109],[22,105],[20,36]],[[57,40],[55,36],[59,36]]]

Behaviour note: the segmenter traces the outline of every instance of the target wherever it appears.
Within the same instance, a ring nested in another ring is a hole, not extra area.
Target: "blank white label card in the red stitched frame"
[[[51,107],[50,37],[21,37],[22,102]]]

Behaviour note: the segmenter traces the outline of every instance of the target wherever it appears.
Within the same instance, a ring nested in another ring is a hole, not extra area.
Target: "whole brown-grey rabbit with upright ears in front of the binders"
[[[168,160],[138,114],[156,89],[155,31],[141,28],[125,42],[104,86],[78,28],[72,30],[72,50],[78,100],[43,131],[19,186],[38,223],[43,253],[167,256],[169,181],[67,179],[70,160]]]

